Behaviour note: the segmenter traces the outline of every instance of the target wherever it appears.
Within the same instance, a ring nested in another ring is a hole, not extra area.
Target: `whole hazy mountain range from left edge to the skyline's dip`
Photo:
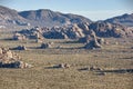
[[[9,9],[0,6],[0,24],[1,26],[40,26],[53,27],[62,24],[71,24],[79,22],[92,22],[90,19],[72,14],[54,12],[48,9],[29,10],[18,12],[17,10]]]

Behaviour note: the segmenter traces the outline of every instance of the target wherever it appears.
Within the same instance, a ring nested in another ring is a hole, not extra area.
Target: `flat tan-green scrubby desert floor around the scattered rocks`
[[[83,49],[74,40],[44,39],[52,48],[39,49],[35,40],[10,40],[12,32],[0,32],[0,46],[28,50],[11,50],[32,68],[0,68],[0,89],[132,89],[133,39],[106,38],[102,49]],[[115,43],[117,42],[117,43]],[[60,48],[59,48],[60,46]],[[55,68],[60,63],[69,68]],[[102,70],[89,70],[90,67]]]

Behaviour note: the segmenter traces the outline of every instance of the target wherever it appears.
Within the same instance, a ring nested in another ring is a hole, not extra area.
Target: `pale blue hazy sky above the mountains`
[[[123,13],[133,13],[133,0],[0,0],[18,11],[51,9],[65,13],[82,14],[91,20],[104,20]]]

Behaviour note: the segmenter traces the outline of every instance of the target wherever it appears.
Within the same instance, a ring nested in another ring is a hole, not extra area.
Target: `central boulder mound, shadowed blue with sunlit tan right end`
[[[63,27],[52,27],[43,36],[48,39],[76,39],[84,37],[84,33],[78,24],[70,24]]]

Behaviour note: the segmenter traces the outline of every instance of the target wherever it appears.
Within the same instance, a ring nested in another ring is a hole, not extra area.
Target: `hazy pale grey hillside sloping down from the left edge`
[[[13,9],[9,9],[0,6],[0,24],[10,26],[10,24],[24,24],[27,20],[18,14]]]

